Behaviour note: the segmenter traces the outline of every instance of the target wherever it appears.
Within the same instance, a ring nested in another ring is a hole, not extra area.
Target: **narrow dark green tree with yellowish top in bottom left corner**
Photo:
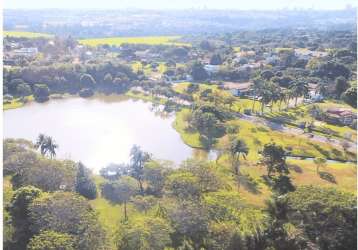
[[[33,235],[30,230],[29,206],[41,194],[40,189],[25,186],[17,189],[11,198],[7,210],[11,215],[11,222],[15,229],[13,243],[16,249],[25,249],[26,244]]]

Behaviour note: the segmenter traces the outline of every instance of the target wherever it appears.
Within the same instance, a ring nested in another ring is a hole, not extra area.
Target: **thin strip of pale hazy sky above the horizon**
[[[5,8],[96,9],[343,9],[356,0],[4,0]]]

